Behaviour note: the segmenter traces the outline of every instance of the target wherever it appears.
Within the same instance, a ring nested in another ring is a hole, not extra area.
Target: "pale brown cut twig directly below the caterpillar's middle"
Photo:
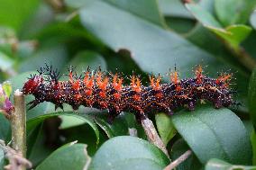
[[[165,155],[169,157],[168,151],[165,148],[164,143],[160,139],[160,136],[157,130],[155,129],[153,122],[148,118],[142,119],[142,127],[147,135],[147,138],[151,141],[151,143],[160,148],[165,153]]]

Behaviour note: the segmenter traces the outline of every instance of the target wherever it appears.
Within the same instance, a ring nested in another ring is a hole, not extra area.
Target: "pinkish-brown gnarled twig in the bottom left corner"
[[[7,170],[22,170],[23,168],[32,168],[32,163],[25,159],[21,152],[5,145],[4,140],[0,140],[0,148],[5,152],[5,157],[9,160],[9,165],[5,166]]]

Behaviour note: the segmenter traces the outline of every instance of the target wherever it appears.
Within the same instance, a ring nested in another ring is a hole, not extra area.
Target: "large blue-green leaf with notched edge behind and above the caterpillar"
[[[144,18],[113,5],[94,1],[82,8],[79,15],[88,31],[116,52],[128,50],[145,72],[164,75],[176,63],[180,76],[189,76],[191,67],[202,60],[205,65],[224,67],[214,56],[177,34],[165,31]],[[215,70],[216,68],[210,73],[215,73]],[[167,76],[164,78],[169,79]]]

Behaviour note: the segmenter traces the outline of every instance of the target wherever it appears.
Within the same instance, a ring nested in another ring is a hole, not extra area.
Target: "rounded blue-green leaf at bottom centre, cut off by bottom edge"
[[[89,169],[163,169],[169,159],[148,141],[129,136],[107,140],[98,149]]]

